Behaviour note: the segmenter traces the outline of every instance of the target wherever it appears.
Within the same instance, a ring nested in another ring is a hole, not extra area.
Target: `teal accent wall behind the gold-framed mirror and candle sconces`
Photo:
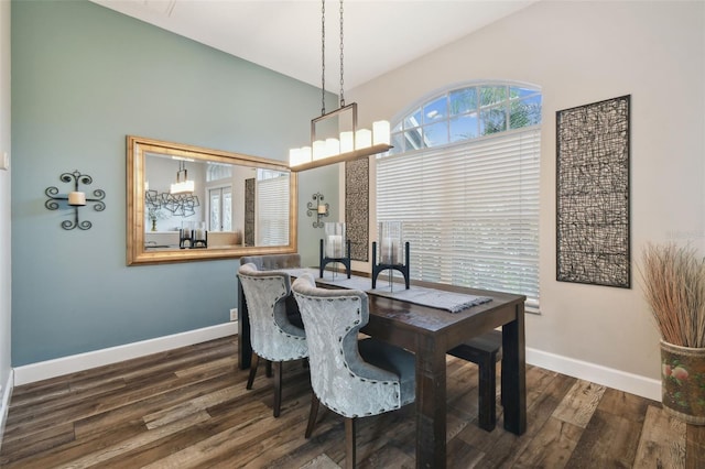
[[[88,1],[12,2],[12,364],[226,323],[239,260],[126,265],[126,135],[285,160],[319,90]],[[335,102],[332,97],[332,102]],[[106,192],[86,231],[44,189],[78,170]],[[337,172],[300,177],[337,203]],[[317,244],[313,244],[314,247]]]

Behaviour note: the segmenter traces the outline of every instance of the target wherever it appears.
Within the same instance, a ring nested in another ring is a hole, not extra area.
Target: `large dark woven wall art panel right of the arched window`
[[[556,280],[631,286],[630,95],[556,112]]]

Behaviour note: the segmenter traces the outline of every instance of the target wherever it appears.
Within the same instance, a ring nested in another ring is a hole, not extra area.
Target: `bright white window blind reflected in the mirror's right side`
[[[257,181],[257,246],[289,244],[289,177]]]

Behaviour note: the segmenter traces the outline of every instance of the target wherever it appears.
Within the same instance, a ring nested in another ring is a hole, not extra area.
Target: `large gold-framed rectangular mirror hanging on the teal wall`
[[[128,265],[296,252],[280,161],[128,135]]]

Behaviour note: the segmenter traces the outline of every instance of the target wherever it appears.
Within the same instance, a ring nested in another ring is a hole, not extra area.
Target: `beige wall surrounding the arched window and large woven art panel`
[[[705,2],[541,1],[348,95],[369,126],[455,83],[541,86],[541,315],[527,317],[528,356],[659,399],[659,335],[636,264],[648,241],[705,247],[704,61]],[[632,287],[556,282],[555,112],[623,95],[631,95]]]

